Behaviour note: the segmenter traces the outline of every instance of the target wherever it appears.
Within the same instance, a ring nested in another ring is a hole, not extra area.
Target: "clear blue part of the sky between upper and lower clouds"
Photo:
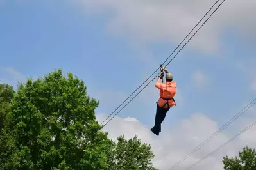
[[[42,77],[62,68],[64,73],[72,72],[85,81],[89,95],[101,102],[99,113],[114,111],[178,45],[166,40],[141,46],[131,43],[127,36],[114,36],[106,31],[112,13],[94,15],[70,1],[3,2],[1,81],[15,85],[22,76]],[[229,34],[219,40],[222,46],[218,52],[210,54],[185,47],[168,66],[182,99],[169,111],[164,126],[174,126],[176,121],[196,112],[225,122],[255,97],[249,88],[252,77],[237,67],[242,61],[253,59],[255,50],[239,39],[235,29],[230,28],[226,33]],[[20,74],[15,77],[6,68]],[[206,86],[194,86],[192,75],[196,71],[209,77]],[[118,116],[135,117],[151,127],[158,90],[153,83],[146,89]]]

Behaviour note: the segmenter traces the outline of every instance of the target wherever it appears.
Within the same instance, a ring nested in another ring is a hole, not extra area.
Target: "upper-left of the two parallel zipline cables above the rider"
[[[220,1],[220,0],[218,0]],[[205,16],[210,12],[210,10],[212,10],[212,8],[218,3],[218,1],[216,1],[216,3],[214,3],[212,5],[212,7],[208,10],[207,13],[205,13],[205,15],[203,15],[203,17],[201,18],[201,20],[203,20],[205,18]],[[194,29],[198,26],[198,24],[200,24],[201,20],[196,24],[196,26],[193,27],[193,29],[189,32],[189,34],[187,36],[185,36],[185,38],[182,40],[182,42],[178,45],[178,47],[180,47],[180,45],[182,45],[182,43],[185,41],[185,39],[192,33],[192,31],[194,31]],[[166,59],[166,61],[171,57],[171,55],[173,55],[173,53],[178,49],[178,47],[176,47],[175,50],[173,50],[173,52],[169,55],[169,57]],[[164,61],[164,63],[166,63],[166,61]],[[162,63],[162,65],[164,65],[164,63]],[[160,67],[157,68],[157,70],[159,69]],[[155,70],[155,72],[153,72],[149,77],[148,79],[150,79],[150,77],[152,77],[156,72],[157,70]],[[146,79],[146,81],[148,81],[148,79]],[[137,88],[135,89],[135,91],[133,91],[132,95],[139,89],[141,88],[141,86],[146,82],[142,82],[142,84]],[[128,98],[132,97],[132,95],[130,95]],[[128,100],[128,98],[126,98],[126,100],[124,100],[124,102],[126,102]],[[121,105],[124,104],[124,102],[122,104],[120,104],[102,123],[101,125],[112,115],[114,114],[115,111],[117,111],[117,109],[119,109],[119,107],[121,107]]]

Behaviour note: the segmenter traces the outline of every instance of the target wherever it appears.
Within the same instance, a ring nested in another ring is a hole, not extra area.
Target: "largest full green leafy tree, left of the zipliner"
[[[112,141],[100,132],[84,82],[61,70],[19,85],[8,128],[19,148],[19,169],[107,169]]]

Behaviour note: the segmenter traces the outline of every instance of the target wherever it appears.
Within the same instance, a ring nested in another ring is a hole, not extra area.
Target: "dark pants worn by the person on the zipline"
[[[170,108],[161,108],[157,104],[157,113],[155,114],[155,126],[151,128],[151,131],[154,134],[159,134],[161,132],[161,124],[166,118],[166,113],[169,111]]]

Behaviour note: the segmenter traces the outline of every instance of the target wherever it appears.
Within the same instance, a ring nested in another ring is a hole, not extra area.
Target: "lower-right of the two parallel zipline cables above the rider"
[[[219,0],[218,0],[219,1]],[[217,2],[218,2],[217,1]],[[223,0],[222,2],[221,2],[221,4],[223,4],[224,3],[224,1],[225,0]],[[216,4],[216,3],[215,3]],[[212,15],[218,10],[218,8],[221,6],[221,4],[219,4],[218,5],[218,7],[214,10],[214,12],[212,12],[212,14],[207,18],[207,20],[209,20],[210,19],[210,17],[212,17]],[[180,50],[178,50],[178,52],[175,54],[175,56],[171,59],[171,61],[173,61],[173,59],[178,55],[178,53],[180,53],[180,51],[183,49],[183,47],[185,47],[185,45],[187,45],[187,43],[194,37],[194,35],[196,35],[196,33],[198,33],[198,31],[201,29],[201,27],[203,27],[203,25],[207,22],[207,20],[205,20],[205,22],[203,22],[203,24],[198,28],[198,30],[191,36],[191,38],[189,38],[189,40],[182,46],[182,48],[180,49]],[[169,61],[169,63],[171,63],[171,61]],[[166,62],[166,61],[165,61]],[[169,65],[169,63],[167,63],[167,65]],[[166,66],[167,66],[166,65]],[[157,71],[156,71],[157,72]],[[159,73],[158,73],[159,74]],[[153,79],[151,79],[151,81],[149,81],[148,82],[148,84],[150,84],[156,77],[157,77],[158,75],[156,75]],[[141,91],[143,90],[143,89],[145,89],[147,86],[148,86],[148,84],[146,84],[146,86],[144,87],[144,88],[142,88],[141,89]],[[142,85],[141,85],[142,86]],[[139,93],[141,93],[141,91],[139,91]],[[139,95],[139,93],[137,93],[137,95]],[[128,104],[130,104],[130,102],[132,102],[132,100],[135,98],[135,97],[137,97],[137,95],[135,95],[126,105],[128,105]],[[126,105],[124,105],[124,107],[126,107]],[[108,120],[107,121],[107,123],[105,123],[105,125],[107,125],[108,124],[108,122],[110,122],[119,112],[121,112],[123,109],[124,109],[124,107],[122,107],[110,120]],[[105,125],[103,125],[103,127],[105,127]]]

